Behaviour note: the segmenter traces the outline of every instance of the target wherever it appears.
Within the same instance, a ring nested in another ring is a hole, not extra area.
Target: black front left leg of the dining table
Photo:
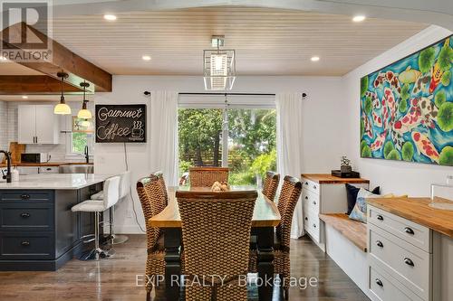
[[[181,230],[164,229],[165,246],[165,297],[169,301],[179,300],[181,279]]]

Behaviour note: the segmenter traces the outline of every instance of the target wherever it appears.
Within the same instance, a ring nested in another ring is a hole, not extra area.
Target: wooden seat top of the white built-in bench
[[[326,225],[338,230],[342,235],[351,240],[354,245],[360,248],[363,252],[367,251],[367,226],[360,221],[352,221],[348,215],[344,213],[328,213],[320,214],[319,218]]]

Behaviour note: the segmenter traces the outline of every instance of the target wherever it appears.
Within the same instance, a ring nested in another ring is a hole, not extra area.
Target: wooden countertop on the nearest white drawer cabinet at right
[[[366,201],[383,211],[453,238],[453,211],[429,207],[429,198],[368,198]]]

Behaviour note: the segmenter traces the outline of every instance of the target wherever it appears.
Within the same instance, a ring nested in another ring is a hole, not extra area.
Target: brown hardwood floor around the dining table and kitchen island
[[[136,275],[144,272],[145,248],[145,235],[130,235],[129,241],[115,246],[114,259],[99,262],[72,259],[56,272],[0,272],[0,300],[143,301],[145,289],[136,287]],[[292,276],[317,277],[318,285],[306,289],[292,287],[290,300],[368,300],[311,240],[293,240],[291,252]],[[160,294],[158,291],[158,300]],[[255,287],[251,287],[250,295],[256,296]],[[280,300],[278,289],[274,300]]]

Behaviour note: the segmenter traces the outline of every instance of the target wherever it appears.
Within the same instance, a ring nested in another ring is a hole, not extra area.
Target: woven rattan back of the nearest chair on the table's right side
[[[281,220],[276,227],[277,236],[285,249],[289,249],[294,208],[299,201],[301,193],[302,183],[299,179],[286,175],[277,203]]]

